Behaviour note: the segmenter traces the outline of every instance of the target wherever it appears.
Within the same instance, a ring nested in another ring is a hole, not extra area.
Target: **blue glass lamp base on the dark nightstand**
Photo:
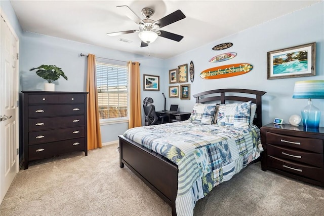
[[[304,128],[313,129],[319,127],[320,111],[312,104],[310,98],[308,99],[308,105],[301,111],[301,115]]]

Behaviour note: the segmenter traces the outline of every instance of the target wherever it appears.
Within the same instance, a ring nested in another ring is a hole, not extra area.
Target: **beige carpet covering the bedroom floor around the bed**
[[[171,215],[127,167],[116,145],[31,162],[0,215]],[[249,165],[196,203],[194,215],[324,215],[324,189]]]

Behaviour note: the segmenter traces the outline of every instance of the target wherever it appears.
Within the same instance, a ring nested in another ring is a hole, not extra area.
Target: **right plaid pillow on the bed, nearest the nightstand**
[[[244,103],[220,104],[217,125],[249,128],[251,101]]]

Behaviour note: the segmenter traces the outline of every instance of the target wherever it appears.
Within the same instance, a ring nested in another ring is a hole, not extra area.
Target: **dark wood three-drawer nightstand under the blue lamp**
[[[324,187],[324,128],[304,129],[289,124],[261,128],[261,167]]]

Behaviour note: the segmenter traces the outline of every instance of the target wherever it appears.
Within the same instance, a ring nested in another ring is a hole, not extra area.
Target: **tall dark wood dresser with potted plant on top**
[[[28,162],[87,147],[88,92],[22,91],[22,147]]]

